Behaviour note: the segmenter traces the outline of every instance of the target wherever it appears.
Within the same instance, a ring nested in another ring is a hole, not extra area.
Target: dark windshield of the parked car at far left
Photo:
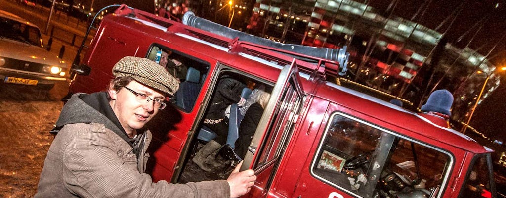
[[[0,17],[0,36],[42,46],[38,28],[8,18]]]

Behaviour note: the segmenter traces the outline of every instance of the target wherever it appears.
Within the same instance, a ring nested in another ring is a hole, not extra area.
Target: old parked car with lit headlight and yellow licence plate
[[[67,65],[44,48],[37,26],[0,10],[0,80],[52,89]]]

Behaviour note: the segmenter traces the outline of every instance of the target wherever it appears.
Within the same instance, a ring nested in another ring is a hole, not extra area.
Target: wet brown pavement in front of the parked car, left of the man
[[[0,197],[32,197],[68,83],[50,91],[0,83]]]

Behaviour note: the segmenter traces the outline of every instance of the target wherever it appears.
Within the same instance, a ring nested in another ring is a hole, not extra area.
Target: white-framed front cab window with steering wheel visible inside
[[[343,113],[330,119],[313,159],[316,178],[361,197],[439,193],[449,154]]]

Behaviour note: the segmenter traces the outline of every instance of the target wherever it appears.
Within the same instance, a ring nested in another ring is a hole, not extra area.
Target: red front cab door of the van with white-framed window
[[[451,153],[335,103],[326,114],[309,154],[291,153],[308,156],[293,197],[443,196]]]

